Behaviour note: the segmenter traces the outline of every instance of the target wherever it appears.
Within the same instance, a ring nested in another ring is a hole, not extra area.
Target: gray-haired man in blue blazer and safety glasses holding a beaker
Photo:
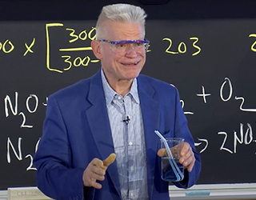
[[[51,198],[169,199],[154,130],[185,138],[185,178],[174,184],[197,181],[200,156],[177,89],[139,75],[149,44],[145,18],[138,6],[103,7],[91,42],[102,69],[50,96],[34,165],[38,188]]]

